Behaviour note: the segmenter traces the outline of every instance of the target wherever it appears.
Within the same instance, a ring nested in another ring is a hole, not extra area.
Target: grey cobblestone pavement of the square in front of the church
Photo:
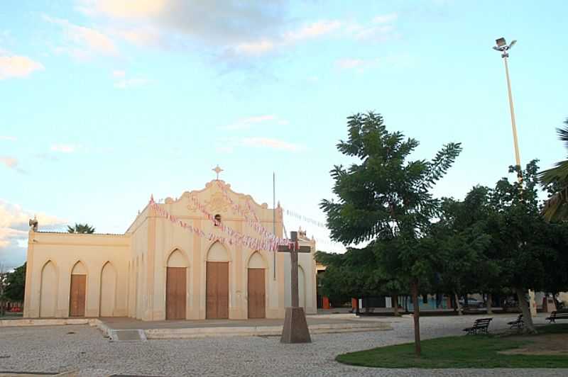
[[[495,315],[490,329],[506,328],[515,315]],[[540,315],[536,322],[544,322]],[[473,316],[423,317],[422,339],[463,334]],[[94,327],[4,327],[0,371],[60,372],[80,376],[129,373],[154,376],[567,376],[560,369],[378,369],[346,366],[337,354],[411,342],[412,319],[381,318],[393,330],[318,334],[312,344],[280,344],[278,337],[212,337],[112,343]]]

